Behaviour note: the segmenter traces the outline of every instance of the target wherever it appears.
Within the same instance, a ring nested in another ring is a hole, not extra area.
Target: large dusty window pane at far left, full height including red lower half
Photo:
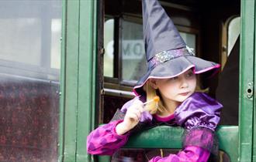
[[[57,161],[61,9],[0,1],[0,161]]]

